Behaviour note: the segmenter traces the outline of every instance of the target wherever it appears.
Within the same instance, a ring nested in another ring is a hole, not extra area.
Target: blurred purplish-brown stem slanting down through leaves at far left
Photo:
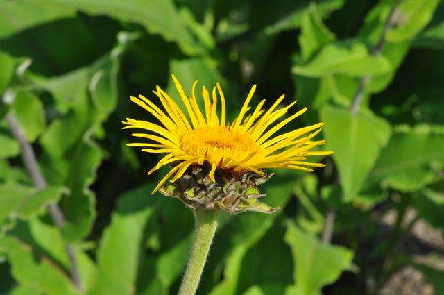
[[[17,142],[19,142],[20,150],[22,151],[22,160],[26,167],[26,171],[33,179],[33,183],[37,189],[45,189],[48,187],[46,180],[37,165],[37,159],[35,158],[35,153],[33,147],[26,140],[24,132],[17,121],[17,118],[12,112],[9,112],[6,116],[6,121],[8,121],[9,128],[12,135],[14,135]],[[65,217],[63,216],[62,210],[56,203],[50,203],[48,205],[48,212],[53,219],[54,224],[59,228],[65,226]],[[82,285],[80,283],[80,274],[78,272],[78,265],[76,260],[76,255],[74,253],[74,248],[71,244],[65,244],[65,251],[67,252],[69,258],[69,270],[71,272],[71,279],[77,289],[81,289]]]

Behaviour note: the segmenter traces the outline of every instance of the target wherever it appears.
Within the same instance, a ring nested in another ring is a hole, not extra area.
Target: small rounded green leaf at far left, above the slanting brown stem
[[[24,130],[26,139],[33,142],[44,130],[44,106],[31,92],[18,92],[12,110]]]

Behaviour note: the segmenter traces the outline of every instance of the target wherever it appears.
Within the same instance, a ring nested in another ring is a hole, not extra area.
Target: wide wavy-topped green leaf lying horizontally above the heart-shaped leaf
[[[372,56],[359,42],[327,44],[304,65],[295,65],[293,74],[307,77],[323,77],[344,74],[352,77],[375,76],[391,70],[384,56]]]

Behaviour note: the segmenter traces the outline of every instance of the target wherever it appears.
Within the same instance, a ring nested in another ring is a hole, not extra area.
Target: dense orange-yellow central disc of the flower
[[[248,135],[226,126],[191,130],[182,136],[181,146],[188,155],[205,157],[210,162],[219,162],[221,158],[240,161],[257,151]]]

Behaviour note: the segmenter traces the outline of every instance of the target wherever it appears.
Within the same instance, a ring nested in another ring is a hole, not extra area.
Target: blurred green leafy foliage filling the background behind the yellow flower
[[[192,214],[150,196],[157,158],[121,131],[176,74],[219,81],[230,118],[254,83],[284,92],[335,151],[265,185],[279,212],[223,215],[200,294],[444,294],[443,56],[438,0],[1,0],[0,293],[176,293]]]

